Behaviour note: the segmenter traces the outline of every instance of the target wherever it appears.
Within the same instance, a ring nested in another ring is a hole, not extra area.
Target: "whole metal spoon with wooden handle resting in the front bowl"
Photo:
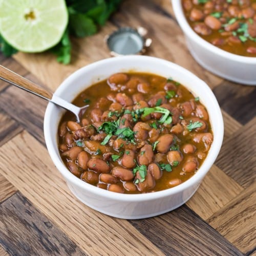
[[[59,98],[54,95],[52,92],[38,86],[38,84],[33,83],[32,81],[14,73],[13,71],[3,67],[0,65],[0,79],[13,84],[16,87],[19,87],[25,91],[35,94],[43,99],[47,99],[54,104],[61,106],[66,110],[69,110],[76,116],[76,120],[79,123],[83,113],[86,111],[89,105],[82,106],[79,108],[78,106],[69,103],[66,100]]]

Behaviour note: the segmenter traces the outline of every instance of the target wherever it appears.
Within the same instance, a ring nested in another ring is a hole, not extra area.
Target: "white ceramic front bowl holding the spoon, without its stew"
[[[63,164],[57,143],[58,124],[65,112],[49,103],[45,113],[44,132],[49,154],[59,172],[66,179],[73,194],[89,207],[123,219],[141,219],[163,214],[184,204],[196,192],[200,182],[214,163],[222,144],[223,119],[218,102],[207,84],[184,68],[154,57],[124,56],[97,61],[73,73],[55,92],[55,95],[72,101],[91,84],[117,72],[138,71],[172,77],[184,84],[206,106],[214,141],[208,156],[198,172],[177,187],[148,194],[118,194],[86,183],[74,176]]]

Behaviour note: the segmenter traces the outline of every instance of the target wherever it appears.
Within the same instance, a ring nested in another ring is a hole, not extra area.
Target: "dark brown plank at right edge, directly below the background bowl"
[[[223,81],[213,91],[221,108],[238,122],[246,124],[255,117],[255,87]]]

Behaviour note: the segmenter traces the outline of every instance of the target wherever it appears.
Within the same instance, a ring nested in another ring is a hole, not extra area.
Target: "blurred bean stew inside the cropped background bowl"
[[[182,0],[190,27],[227,52],[256,57],[256,0]]]

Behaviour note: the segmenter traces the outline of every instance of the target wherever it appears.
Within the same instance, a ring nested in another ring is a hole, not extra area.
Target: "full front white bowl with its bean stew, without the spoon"
[[[100,60],[55,95],[89,104],[80,123],[51,102],[44,133],[72,193],[106,215],[141,219],[185,203],[214,163],[223,119],[207,84],[154,57]]]

